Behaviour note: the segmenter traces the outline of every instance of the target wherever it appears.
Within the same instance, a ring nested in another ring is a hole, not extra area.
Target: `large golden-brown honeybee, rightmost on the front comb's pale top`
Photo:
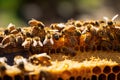
[[[34,65],[51,65],[51,57],[48,56],[46,53],[35,54],[29,57],[29,61]]]

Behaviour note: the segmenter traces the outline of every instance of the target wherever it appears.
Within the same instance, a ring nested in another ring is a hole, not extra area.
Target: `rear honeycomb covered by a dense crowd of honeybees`
[[[30,27],[16,28],[10,23],[0,33],[1,54],[27,51],[38,53],[65,53],[75,55],[76,51],[120,50],[120,27],[114,19],[68,20],[49,27],[32,19]]]

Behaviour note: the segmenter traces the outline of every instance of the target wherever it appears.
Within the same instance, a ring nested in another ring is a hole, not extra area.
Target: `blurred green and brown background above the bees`
[[[119,10],[120,0],[0,0],[0,27],[25,26],[31,18],[45,25],[72,18],[112,18]]]

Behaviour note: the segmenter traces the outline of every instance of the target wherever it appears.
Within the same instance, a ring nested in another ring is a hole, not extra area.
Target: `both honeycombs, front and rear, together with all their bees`
[[[120,22],[10,23],[0,31],[0,80],[120,80]]]

